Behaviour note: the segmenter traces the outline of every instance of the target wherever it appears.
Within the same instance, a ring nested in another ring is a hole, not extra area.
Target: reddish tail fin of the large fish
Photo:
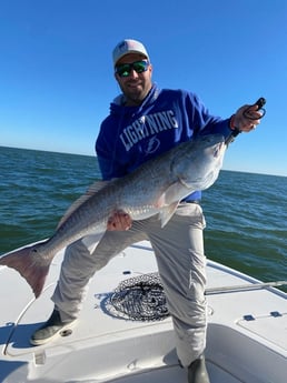
[[[38,298],[43,289],[49,272],[50,262],[42,262],[38,253],[40,244],[16,250],[0,258],[0,265],[6,265],[18,271],[32,288]]]

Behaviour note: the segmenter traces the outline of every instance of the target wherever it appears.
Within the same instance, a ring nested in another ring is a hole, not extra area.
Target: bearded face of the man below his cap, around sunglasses
[[[138,53],[129,53],[123,56],[116,67],[122,64],[131,64],[137,61],[147,61],[145,57]],[[129,74],[126,77],[120,77],[118,73],[115,73],[116,80],[118,81],[122,93],[126,95],[127,105],[139,105],[148,94],[151,89],[151,72],[152,67],[148,64],[146,71],[137,73],[135,69],[130,69]]]

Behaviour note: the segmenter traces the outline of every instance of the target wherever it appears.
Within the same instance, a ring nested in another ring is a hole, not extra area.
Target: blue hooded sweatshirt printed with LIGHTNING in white
[[[199,98],[184,90],[159,90],[155,84],[144,102],[125,107],[123,95],[110,104],[102,121],[96,153],[103,180],[123,177],[144,162],[198,134],[228,137],[230,119],[210,115]],[[198,200],[195,192],[185,200]]]

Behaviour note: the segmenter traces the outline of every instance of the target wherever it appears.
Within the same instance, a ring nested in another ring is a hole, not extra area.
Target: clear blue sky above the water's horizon
[[[93,155],[123,38],[146,44],[160,88],[216,115],[265,97],[224,169],[287,175],[286,0],[0,0],[0,145]]]

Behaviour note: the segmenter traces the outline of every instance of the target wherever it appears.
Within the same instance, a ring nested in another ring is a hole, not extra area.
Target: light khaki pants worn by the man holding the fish
[[[204,228],[201,206],[181,203],[162,229],[158,218],[152,216],[133,221],[128,231],[107,231],[101,239],[91,235],[72,243],[66,250],[52,296],[62,321],[78,316],[87,284],[96,271],[127,246],[149,240],[174,322],[178,357],[188,366],[206,346]]]

